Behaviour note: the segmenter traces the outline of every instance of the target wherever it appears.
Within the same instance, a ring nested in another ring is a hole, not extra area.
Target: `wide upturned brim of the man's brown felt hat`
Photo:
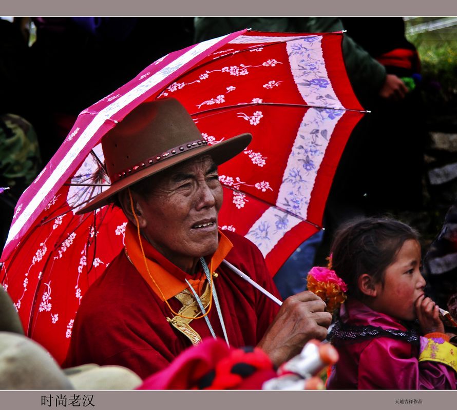
[[[192,150],[180,153],[171,158],[164,159],[154,166],[142,169],[135,174],[129,175],[124,179],[116,181],[107,190],[97,195],[92,201],[86,204],[83,208],[77,211],[77,214],[85,214],[94,211],[108,204],[110,198],[122,191],[123,189],[134,185],[134,183],[147,178],[151,175],[156,175],[174,165],[202,154],[211,155],[217,165],[228,161],[234,156],[243,151],[251,142],[252,135],[249,133],[240,134],[225,141],[218,142],[215,145],[199,146]]]

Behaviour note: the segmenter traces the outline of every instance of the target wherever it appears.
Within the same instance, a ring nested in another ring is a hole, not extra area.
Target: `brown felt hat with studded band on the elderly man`
[[[140,104],[102,138],[111,186],[78,214],[103,207],[119,191],[186,159],[208,154],[220,165],[243,151],[251,139],[245,133],[208,145],[177,99]]]

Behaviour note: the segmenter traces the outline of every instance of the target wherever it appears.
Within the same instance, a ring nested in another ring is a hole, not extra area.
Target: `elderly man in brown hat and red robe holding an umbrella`
[[[259,346],[279,365],[326,337],[331,315],[316,295],[299,293],[279,308],[221,264],[278,295],[255,245],[218,230],[217,166],[251,138],[207,145],[172,98],[141,104],[107,133],[111,187],[80,212],[120,206],[125,248],[83,297],[64,365],[118,364],[146,378],[211,336]]]

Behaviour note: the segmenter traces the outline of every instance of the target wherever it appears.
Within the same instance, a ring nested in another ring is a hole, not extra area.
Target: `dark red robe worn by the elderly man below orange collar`
[[[225,259],[280,298],[258,248],[233,232],[224,231],[224,235],[234,245]],[[216,272],[214,283],[230,345],[255,346],[279,306],[226,265],[221,264]],[[168,303],[176,312],[182,307],[174,297]],[[145,379],[192,345],[167,317],[173,314],[123,250],[83,297],[64,367],[116,364]],[[223,339],[215,306],[208,317],[216,335]],[[190,325],[201,338],[211,337],[205,319],[194,319]]]

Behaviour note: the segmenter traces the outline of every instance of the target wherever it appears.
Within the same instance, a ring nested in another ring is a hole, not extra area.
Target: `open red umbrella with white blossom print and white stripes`
[[[209,144],[252,133],[220,166],[219,224],[256,243],[274,274],[321,229],[339,157],[364,113],[341,39],[243,30],[166,55],[84,110],[18,201],[2,254],[0,279],[27,335],[62,361],[82,296],[122,250],[119,209],[75,212],[109,186],[102,136],[150,99],[179,99]]]

